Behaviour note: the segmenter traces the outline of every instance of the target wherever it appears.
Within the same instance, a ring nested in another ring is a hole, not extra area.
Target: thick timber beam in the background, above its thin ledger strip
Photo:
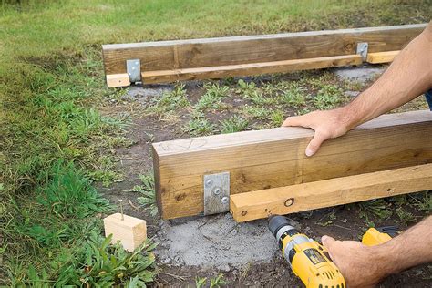
[[[427,24],[325,30],[262,36],[144,42],[102,46],[105,73],[126,73],[139,58],[141,71],[231,66],[303,58],[352,55],[359,42],[368,52],[400,50]]]

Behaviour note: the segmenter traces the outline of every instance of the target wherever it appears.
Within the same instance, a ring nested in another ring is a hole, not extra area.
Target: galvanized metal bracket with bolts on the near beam
[[[230,172],[204,175],[204,215],[230,211]]]

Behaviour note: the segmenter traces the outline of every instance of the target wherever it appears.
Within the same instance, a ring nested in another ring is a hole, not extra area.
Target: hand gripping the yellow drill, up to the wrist
[[[374,248],[356,241],[335,241],[329,236],[323,236],[321,242],[344,276],[347,287],[375,287],[386,277],[386,262],[377,259]]]

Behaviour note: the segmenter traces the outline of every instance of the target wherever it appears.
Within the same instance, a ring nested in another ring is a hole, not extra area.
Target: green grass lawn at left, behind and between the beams
[[[432,15],[427,1],[383,0],[24,0],[0,7],[0,285],[133,286],[155,276],[153,243],[129,254],[101,236],[101,218],[113,206],[98,189],[125,179],[117,151],[133,144],[136,120],[112,108],[126,91],[105,87],[102,44],[424,23]],[[314,72],[295,77],[298,83],[210,81],[195,99],[178,84],[139,113],[163,122],[186,111],[175,122],[181,137],[228,133],[277,126],[287,110],[332,108],[349,100],[341,89],[364,88]],[[234,105],[234,98],[242,100]],[[235,113],[222,113],[227,105]],[[221,117],[204,115],[209,109]]]

